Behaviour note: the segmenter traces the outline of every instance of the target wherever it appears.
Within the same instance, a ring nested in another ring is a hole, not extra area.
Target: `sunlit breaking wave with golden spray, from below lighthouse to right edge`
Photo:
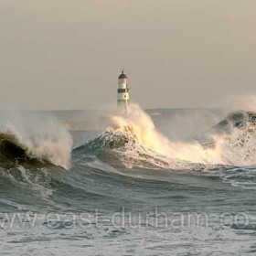
[[[127,166],[202,170],[210,165],[254,165],[255,120],[252,112],[235,112],[200,139],[176,142],[159,133],[150,116],[132,105],[126,116],[112,116],[113,128],[82,148],[111,150]]]

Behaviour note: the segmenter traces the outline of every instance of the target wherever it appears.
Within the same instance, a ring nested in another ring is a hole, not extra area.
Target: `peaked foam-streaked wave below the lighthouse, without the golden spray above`
[[[148,169],[194,169],[197,171],[205,169],[205,165],[155,153],[155,151],[141,144],[128,127],[126,131],[109,129],[88,144],[76,148],[73,153],[76,155],[94,154],[100,156],[101,160],[103,160],[103,155],[106,155],[108,162],[112,164],[119,163],[127,168],[136,166]],[[114,161],[110,161],[111,158],[114,158]]]

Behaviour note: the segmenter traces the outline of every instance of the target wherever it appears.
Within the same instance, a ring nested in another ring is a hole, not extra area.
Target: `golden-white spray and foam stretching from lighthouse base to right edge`
[[[229,120],[232,116],[236,118],[233,123]],[[255,165],[256,128],[250,116],[253,116],[253,112],[235,112],[228,116],[227,120],[221,122],[228,123],[228,127],[220,127],[218,134],[214,129],[208,133],[211,146],[197,140],[178,142],[165,137],[157,131],[150,116],[135,104],[131,105],[127,115],[112,116],[112,121],[117,130],[129,131],[144,147],[169,158],[208,165]]]

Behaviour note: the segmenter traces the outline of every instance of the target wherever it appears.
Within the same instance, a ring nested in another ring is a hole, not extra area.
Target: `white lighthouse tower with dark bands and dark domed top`
[[[122,74],[118,77],[117,105],[125,113],[127,113],[129,107],[129,91],[127,76],[124,74],[124,71],[122,71]]]

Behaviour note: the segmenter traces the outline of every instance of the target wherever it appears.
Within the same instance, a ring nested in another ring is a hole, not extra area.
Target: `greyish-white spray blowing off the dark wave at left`
[[[13,136],[30,157],[69,168],[72,139],[53,118],[11,111],[0,116],[0,133]]]

